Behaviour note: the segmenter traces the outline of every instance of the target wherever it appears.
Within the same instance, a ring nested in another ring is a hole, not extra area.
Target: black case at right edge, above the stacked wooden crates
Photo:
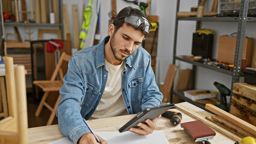
[[[256,68],[247,67],[243,73],[245,74],[245,83],[256,85]]]

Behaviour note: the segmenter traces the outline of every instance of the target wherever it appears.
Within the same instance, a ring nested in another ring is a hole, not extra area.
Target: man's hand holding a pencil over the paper
[[[106,140],[102,139],[102,137],[97,136],[100,140],[101,144],[107,144]],[[98,143],[96,138],[91,132],[85,133],[80,139],[79,144],[96,144]]]

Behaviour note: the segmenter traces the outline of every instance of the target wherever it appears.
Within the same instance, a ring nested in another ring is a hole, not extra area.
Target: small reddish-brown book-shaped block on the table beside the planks
[[[212,128],[200,120],[183,122],[180,124],[180,126],[181,128],[184,128],[185,133],[195,140],[195,142],[213,139],[213,137],[216,135]]]

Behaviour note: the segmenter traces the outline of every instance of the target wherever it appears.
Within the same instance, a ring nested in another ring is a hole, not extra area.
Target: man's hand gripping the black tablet
[[[145,122],[147,124],[139,122],[137,126],[140,128],[129,128],[129,131],[132,131],[133,133],[141,134],[141,135],[151,134],[156,129],[156,119],[159,119],[159,118],[161,118],[161,115],[159,115],[157,118],[153,119],[152,121],[150,119],[146,119]]]

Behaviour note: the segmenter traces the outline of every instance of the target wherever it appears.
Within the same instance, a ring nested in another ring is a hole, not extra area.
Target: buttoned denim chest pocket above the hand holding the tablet
[[[138,103],[142,98],[142,82],[142,76],[133,77],[129,82],[130,99],[133,103]]]

